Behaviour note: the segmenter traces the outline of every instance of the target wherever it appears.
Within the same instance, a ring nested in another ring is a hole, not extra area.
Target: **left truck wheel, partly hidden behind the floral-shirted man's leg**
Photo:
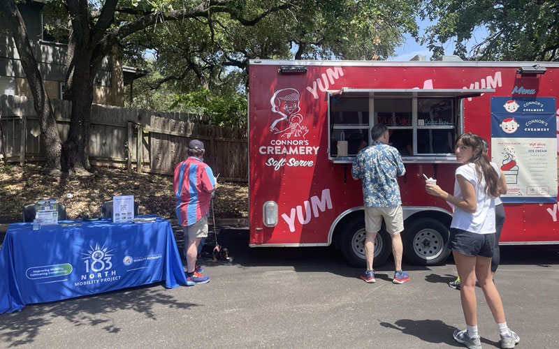
[[[365,267],[365,222],[363,219],[351,221],[342,231],[341,250],[345,259],[355,267]],[[382,229],[375,239],[375,253],[372,257],[373,267],[381,266],[392,251],[392,240]]]

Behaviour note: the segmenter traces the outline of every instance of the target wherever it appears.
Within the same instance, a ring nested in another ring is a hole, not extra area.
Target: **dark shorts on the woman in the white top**
[[[493,257],[495,233],[476,234],[465,230],[450,228],[449,249],[463,255]]]

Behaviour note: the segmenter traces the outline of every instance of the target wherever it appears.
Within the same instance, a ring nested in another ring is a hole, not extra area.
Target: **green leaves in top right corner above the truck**
[[[559,59],[559,1],[554,0],[423,0],[421,17],[438,20],[426,29],[434,57],[454,43],[463,59],[557,61]],[[474,31],[486,32],[472,42]],[[471,47],[468,51],[466,47]]]

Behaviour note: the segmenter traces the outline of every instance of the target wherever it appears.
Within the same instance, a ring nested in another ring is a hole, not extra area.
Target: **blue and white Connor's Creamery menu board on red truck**
[[[491,158],[509,188],[503,202],[557,201],[555,98],[491,98]]]

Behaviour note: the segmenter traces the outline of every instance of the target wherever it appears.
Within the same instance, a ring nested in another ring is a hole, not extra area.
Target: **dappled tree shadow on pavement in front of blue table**
[[[55,319],[66,318],[71,325],[101,327],[107,334],[119,334],[121,328],[111,317],[118,311],[136,311],[145,318],[157,320],[155,306],[190,309],[194,303],[180,302],[163,288],[162,283],[100,293],[87,297],[66,299],[43,304],[29,304],[21,312],[1,314],[1,342],[8,348],[31,344]]]

